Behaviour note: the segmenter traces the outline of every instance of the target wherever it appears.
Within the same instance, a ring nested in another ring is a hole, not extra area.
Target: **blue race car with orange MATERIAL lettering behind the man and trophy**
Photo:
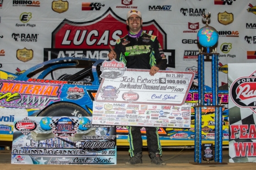
[[[65,57],[37,64],[19,74],[0,71],[0,108],[26,109],[28,116],[92,116],[93,101],[101,83],[102,62],[102,59]],[[105,76],[113,75],[106,73]],[[211,99],[210,96],[211,89],[206,88],[205,99]],[[224,106],[223,143],[228,145],[228,91],[220,91],[219,97]],[[197,100],[198,91],[190,89],[186,103],[196,104]],[[170,107],[166,106],[164,111],[168,112]],[[214,143],[214,109],[205,109],[202,114],[203,142]],[[191,128],[160,128],[161,145],[194,146],[194,115],[192,107]],[[126,127],[116,126],[116,132],[117,146],[129,146]],[[141,128],[141,133],[146,146],[145,128]],[[11,141],[11,135],[2,140]]]

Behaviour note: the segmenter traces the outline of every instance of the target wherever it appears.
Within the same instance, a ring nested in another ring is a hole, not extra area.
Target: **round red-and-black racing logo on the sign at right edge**
[[[230,85],[229,95],[240,108],[250,108],[256,113],[256,71],[249,77],[240,77]]]

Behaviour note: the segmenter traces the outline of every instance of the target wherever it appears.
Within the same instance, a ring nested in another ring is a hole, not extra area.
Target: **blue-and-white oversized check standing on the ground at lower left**
[[[11,163],[116,164],[116,128],[92,117],[18,116]]]

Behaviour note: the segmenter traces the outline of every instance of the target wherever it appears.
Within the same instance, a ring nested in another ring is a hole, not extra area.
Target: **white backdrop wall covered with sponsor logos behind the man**
[[[126,16],[130,9],[141,12],[144,32],[157,36],[164,52],[171,50],[171,57],[167,57],[170,55],[166,52],[165,55],[168,68],[173,71],[196,66],[198,49],[201,49],[196,34],[205,26],[202,14],[209,12],[209,24],[219,34],[219,42],[213,49],[219,53],[225,50],[220,53],[219,62],[253,62],[255,54],[250,51],[256,43],[253,32],[256,29],[255,2],[187,2],[0,0],[1,69],[10,73],[17,67],[27,70],[43,61],[63,56],[107,59],[109,45],[114,47],[116,40],[127,34]],[[225,42],[232,43],[232,46],[221,46]],[[227,50],[231,47],[232,53]],[[205,85],[211,87],[211,71],[207,65]],[[221,72],[219,79],[219,86],[221,82],[228,83],[226,73]]]

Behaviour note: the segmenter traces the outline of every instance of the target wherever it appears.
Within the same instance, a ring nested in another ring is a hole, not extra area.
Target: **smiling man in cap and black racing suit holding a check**
[[[124,62],[127,68],[150,69],[149,74],[154,76],[159,70],[166,69],[167,59],[156,36],[142,31],[142,19],[140,11],[132,9],[127,13],[127,26],[129,32],[125,37],[117,39],[115,50],[111,48],[108,57],[110,60]],[[142,138],[141,127],[127,127],[128,141],[130,143],[130,161],[126,164],[142,163]],[[161,160],[161,144],[158,135],[159,127],[145,127],[147,147],[151,163],[166,165]]]

